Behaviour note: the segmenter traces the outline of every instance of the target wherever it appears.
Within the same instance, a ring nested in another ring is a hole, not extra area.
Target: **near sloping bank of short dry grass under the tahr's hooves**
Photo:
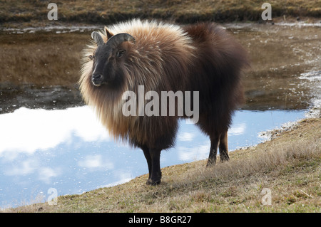
[[[205,169],[205,160],[163,168],[163,183],[147,175],[126,184],[59,196],[58,205],[14,212],[320,212],[321,119],[303,120],[271,141],[230,154]],[[271,205],[261,192],[271,190]]]

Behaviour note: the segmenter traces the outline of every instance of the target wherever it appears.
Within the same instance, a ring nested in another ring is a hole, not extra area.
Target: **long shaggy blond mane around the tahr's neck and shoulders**
[[[155,117],[136,116],[124,117],[121,107],[126,100],[121,96],[126,90],[138,94],[138,85],[144,85],[145,92],[184,90],[188,81],[189,65],[193,62],[193,40],[180,26],[156,21],[141,21],[135,19],[128,22],[106,26],[113,35],[129,33],[136,39],[135,44],[124,43],[129,47],[128,57],[119,65],[125,75],[126,83],[118,90],[96,88],[91,84],[93,62],[88,59],[96,50],[96,43],[91,41],[83,51],[81,61],[81,78],[79,80],[81,94],[86,104],[95,108],[96,115],[115,139],[127,140],[132,145],[153,141],[153,131],[158,130],[158,136],[168,133],[168,128],[161,122],[156,123]],[[100,31],[103,41],[107,35]],[[166,76],[164,76],[166,75]],[[177,83],[180,81],[180,83]],[[138,114],[137,114],[138,115]],[[175,118],[175,117],[171,117]],[[174,119],[169,124],[175,126]],[[171,123],[172,122],[172,123]],[[175,127],[174,129],[175,130]],[[175,137],[175,136],[174,136]]]

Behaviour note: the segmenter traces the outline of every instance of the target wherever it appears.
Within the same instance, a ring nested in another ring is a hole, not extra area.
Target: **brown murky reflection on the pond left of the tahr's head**
[[[0,83],[76,85],[81,51],[90,36],[35,33],[0,36]]]

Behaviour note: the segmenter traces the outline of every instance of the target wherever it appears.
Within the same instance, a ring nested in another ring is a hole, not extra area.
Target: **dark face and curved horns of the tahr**
[[[119,64],[126,59],[126,45],[123,42],[131,41],[135,43],[135,38],[128,33],[118,33],[113,36],[106,29],[107,42],[103,41],[101,35],[93,31],[91,37],[97,44],[96,51],[89,56],[93,60],[93,74],[91,75],[91,82],[96,87],[104,84],[116,83],[120,72]]]

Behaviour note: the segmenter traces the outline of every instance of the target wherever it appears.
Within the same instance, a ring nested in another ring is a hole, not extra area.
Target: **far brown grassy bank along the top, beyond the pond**
[[[48,23],[50,1],[0,1],[0,23]],[[268,1],[272,17],[321,17],[320,0]],[[114,23],[133,17],[165,19],[180,23],[195,21],[258,21],[264,1],[238,0],[119,0],[57,1],[58,21],[73,23]]]

